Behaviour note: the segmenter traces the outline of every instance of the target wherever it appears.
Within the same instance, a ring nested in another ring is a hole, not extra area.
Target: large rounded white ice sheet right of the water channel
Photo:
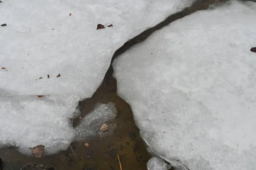
[[[255,17],[256,3],[233,0],[116,59],[118,94],[152,152],[190,170],[256,169]]]

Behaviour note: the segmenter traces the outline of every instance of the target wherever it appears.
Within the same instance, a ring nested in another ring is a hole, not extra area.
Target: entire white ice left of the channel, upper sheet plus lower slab
[[[2,1],[0,145],[17,142],[23,153],[38,144],[48,153],[67,148],[76,135],[68,120],[79,99],[99,87],[114,52],[193,2]],[[106,28],[96,30],[98,24]]]

